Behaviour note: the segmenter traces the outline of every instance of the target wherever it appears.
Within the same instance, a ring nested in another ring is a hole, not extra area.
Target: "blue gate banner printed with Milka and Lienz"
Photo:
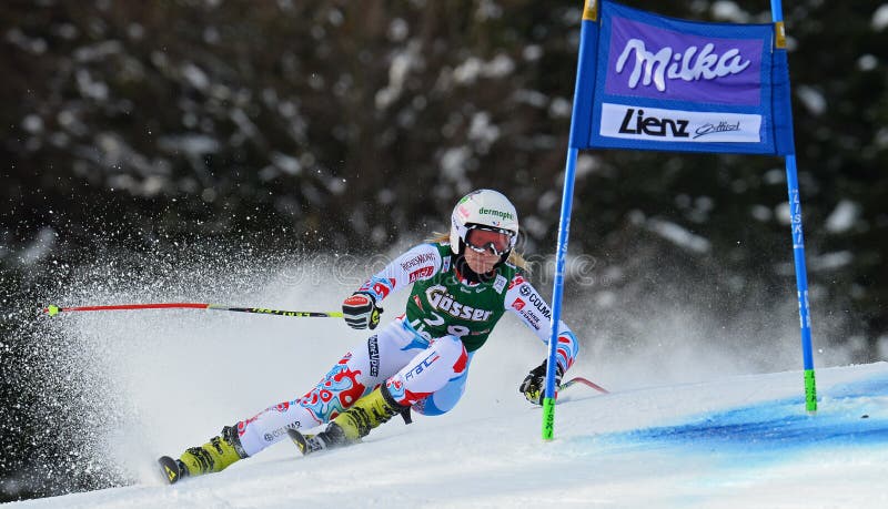
[[[794,152],[789,72],[775,24],[598,6],[584,13],[571,147]]]

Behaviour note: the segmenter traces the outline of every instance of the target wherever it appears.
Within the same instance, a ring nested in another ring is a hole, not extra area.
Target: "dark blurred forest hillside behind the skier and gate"
[[[770,21],[764,0],[624,3]],[[241,299],[296,262],[302,288],[346,292],[379,268],[371,255],[443,231],[455,200],[476,187],[513,200],[533,279],[549,295],[582,8],[0,3],[0,500],[128,482],[72,477],[77,465],[48,437],[85,426],[60,416],[77,414],[83,400],[71,394],[103,375],[71,381],[81,364],[60,359],[83,353],[59,350],[71,330],[41,319],[46,304],[151,296],[275,307],[273,296]],[[815,360],[885,360],[888,3],[787,1],[784,14]],[[569,252],[566,318],[599,369],[664,344],[657,358],[670,364],[668,347],[683,338],[662,334],[683,323],[706,324],[688,342],[755,360],[741,369],[800,369],[781,160],[584,152]],[[305,276],[343,259],[336,277]],[[357,275],[342,277],[349,271]],[[183,274],[204,277],[184,287]],[[778,343],[790,354],[768,349]],[[62,441],[79,450],[82,436]]]

